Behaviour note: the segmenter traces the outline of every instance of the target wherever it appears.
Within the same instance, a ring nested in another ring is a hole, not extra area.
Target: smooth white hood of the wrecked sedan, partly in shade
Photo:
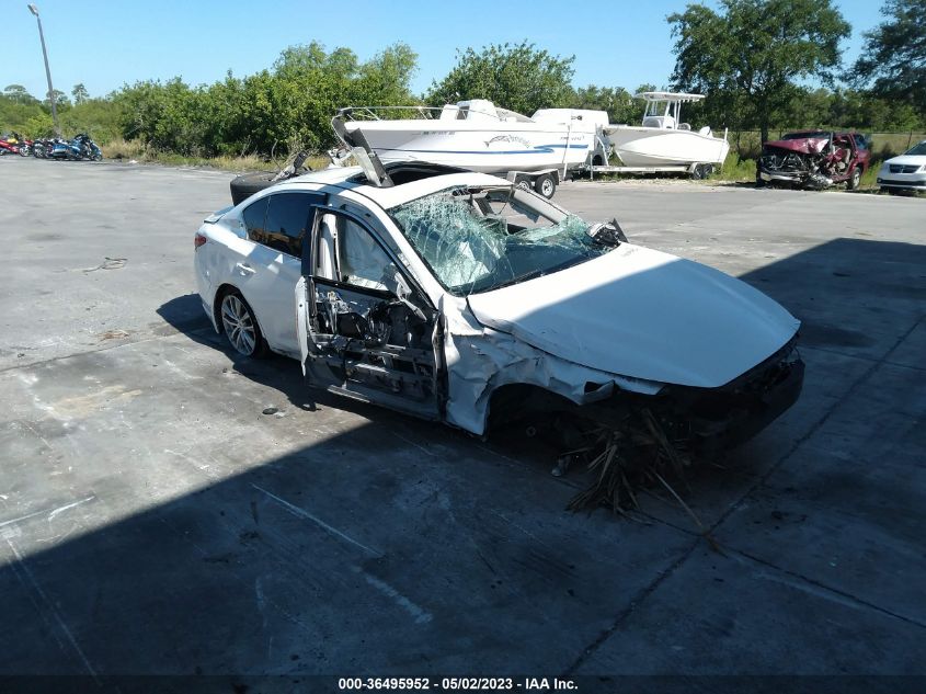
[[[483,326],[561,359],[706,388],[768,359],[800,327],[744,282],[630,243],[468,302]]]

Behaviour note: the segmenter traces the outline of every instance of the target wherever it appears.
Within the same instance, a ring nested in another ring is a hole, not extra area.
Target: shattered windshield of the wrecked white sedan
[[[457,296],[539,277],[611,250],[588,225],[514,186],[453,189],[391,211],[444,287]]]

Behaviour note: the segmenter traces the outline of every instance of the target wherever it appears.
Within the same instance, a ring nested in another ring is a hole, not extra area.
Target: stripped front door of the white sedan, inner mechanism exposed
[[[319,209],[304,244],[297,332],[309,382],[441,419],[438,312],[359,214]]]

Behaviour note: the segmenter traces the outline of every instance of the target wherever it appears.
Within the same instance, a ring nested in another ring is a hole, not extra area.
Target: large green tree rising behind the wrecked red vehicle
[[[798,80],[832,82],[850,33],[831,0],[720,0],[667,18],[675,37],[675,87],[708,95],[717,125],[758,127],[768,139]]]

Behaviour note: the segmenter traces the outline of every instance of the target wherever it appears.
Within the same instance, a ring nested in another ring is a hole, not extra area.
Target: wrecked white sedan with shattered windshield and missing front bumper
[[[368,177],[291,179],[196,232],[203,307],[238,352],[288,354],[313,386],[478,435],[642,408],[696,452],[798,398],[799,321],[750,285],[495,177]]]

